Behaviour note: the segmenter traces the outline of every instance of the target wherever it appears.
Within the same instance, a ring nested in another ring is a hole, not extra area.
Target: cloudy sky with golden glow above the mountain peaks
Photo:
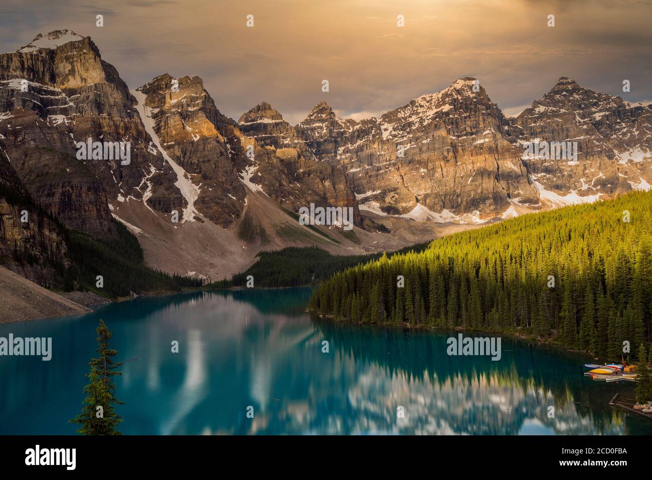
[[[198,75],[236,120],[263,101],[293,125],[320,100],[379,116],[464,76],[513,114],[561,76],[652,100],[651,18],[652,0],[2,0],[0,52],[71,29],[130,88]]]

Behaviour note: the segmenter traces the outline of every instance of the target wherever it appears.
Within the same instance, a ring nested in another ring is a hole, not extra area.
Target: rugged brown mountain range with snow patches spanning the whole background
[[[130,160],[78,160],[89,138],[128,142]],[[545,142],[576,155],[524,155]],[[342,119],[319,102],[292,126],[261,102],[235,121],[198,76],[130,89],[90,37],[53,31],[0,54],[0,252],[52,286],[70,262],[65,231],[104,237],[117,221],[152,267],[216,280],[260,250],[393,250],[649,190],[651,147],[651,106],[565,77],[514,117],[464,77],[379,118]],[[351,207],[353,230],[302,225],[311,203]]]

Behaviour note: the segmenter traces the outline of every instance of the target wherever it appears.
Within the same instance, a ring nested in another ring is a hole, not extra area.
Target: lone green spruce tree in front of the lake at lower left
[[[78,423],[82,427],[77,433],[82,435],[121,435],[115,428],[123,419],[115,413],[115,405],[123,404],[115,398],[115,384],[113,376],[121,375],[118,371],[123,363],[113,362],[112,357],[117,354],[116,350],[108,348],[111,331],[100,320],[97,327],[97,343],[100,348],[96,350],[99,357],[91,359],[88,364],[91,372],[87,374],[89,384],[83,388],[86,394],[82,402],[82,413],[70,419],[68,423]]]

